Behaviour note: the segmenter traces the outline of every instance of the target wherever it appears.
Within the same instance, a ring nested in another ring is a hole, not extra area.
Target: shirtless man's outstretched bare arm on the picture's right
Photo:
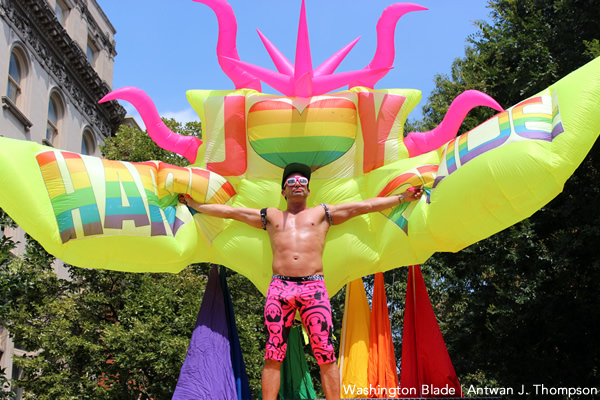
[[[414,188],[414,190],[407,190],[398,196],[373,197],[363,201],[329,206],[329,212],[331,214],[331,220],[333,221],[333,224],[338,225],[358,215],[383,211],[385,209],[397,206],[403,202],[419,200],[422,195],[423,188],[418,187]]]

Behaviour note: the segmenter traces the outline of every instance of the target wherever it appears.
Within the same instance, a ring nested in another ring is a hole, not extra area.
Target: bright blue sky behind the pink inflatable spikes
[[[198,120],[187,103],[190,89],[233,89],[216,57],[217,20],[212,10],[192,0],[97,0],[117,30],[113,87],[136,86],[148,93],[162,116]],[[412,118],[434,88],[436,74],[449,74],[464,55],[465,39],[489,20],[486,0],[414,1],[428,11],[403,16],[396,27],[394,69],[375,88],[423,92]],[[375,53],[377,21],[393,0],[306,0],[313,67],[361,37],[336,72],[364,68]],[[301,0],[229,0],[237,24],[240,59],[274,69],[259,29],[293,62]],[[343,89],[343,88],[342,88]],[[341,90],[341,89],[340,89]],[[263,92],[277,93],[263,84]],[[131,115],[135,110],[122,103]],[[141,120],[138,119],[139,122]]]

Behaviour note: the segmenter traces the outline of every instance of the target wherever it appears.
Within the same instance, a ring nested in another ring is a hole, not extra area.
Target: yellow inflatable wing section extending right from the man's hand
[[[558,195],[600,134],[600,58],[443,146],[414,246],[458,251]]]

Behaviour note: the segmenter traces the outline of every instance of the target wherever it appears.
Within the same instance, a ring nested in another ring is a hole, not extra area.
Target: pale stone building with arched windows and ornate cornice
[[[115,33],[96,0],[0,0],[0,135],[99,156],[125,117],[97,103],[112,90]],[[24,353],[0,325],[9,379]]]

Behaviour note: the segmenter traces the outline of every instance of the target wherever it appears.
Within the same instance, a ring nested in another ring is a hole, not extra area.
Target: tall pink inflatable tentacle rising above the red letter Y
[[[373,60],[365,69],[388,68],[392,66],[396,55],[394,35],[398,20],[404,14],[409,12],[423,10],[427,10],[427,8],[412,3],[396,3],[383,10],[381,17],[377,22],[377,50],[375,51]],[[374,75],[368,79],[354,82],[350,87],[365,86],[372,89],[386,73]]]

